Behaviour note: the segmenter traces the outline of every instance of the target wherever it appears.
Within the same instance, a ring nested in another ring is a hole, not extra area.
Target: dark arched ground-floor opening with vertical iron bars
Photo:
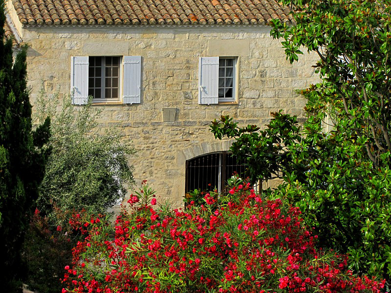
[[[223,192],[225,184],[235,172],[243,176],[246,166],[229,152],[210,153],[186,161],[185,192],[217,188]],[[209,185],[210,184],[210,185]]]

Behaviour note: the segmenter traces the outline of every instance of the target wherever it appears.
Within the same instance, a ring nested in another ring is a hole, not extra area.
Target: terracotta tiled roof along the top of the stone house
[[[12,0],[22,24],[267,24],[291,22],[276,0]]]

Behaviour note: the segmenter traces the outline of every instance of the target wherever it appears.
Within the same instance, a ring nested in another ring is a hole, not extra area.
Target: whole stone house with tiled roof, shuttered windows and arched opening
[[[220,115],[265,125],[270,112],[301,116],[295,89],[314,83],[305,55],[293,65],[271,19],[291,23],[275,0],[8,0],[7,35],[27,43],[32,104],[41,83],[75,107],[89,95],[102,125],[132,139],[135,178],[182,205],[185,191],[240,165],[209,124]]]

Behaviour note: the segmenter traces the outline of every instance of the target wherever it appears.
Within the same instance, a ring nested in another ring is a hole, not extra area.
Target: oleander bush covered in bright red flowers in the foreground
[[[298,208],[264,200],[249,184],[186,210],[157,207],[146,183],[111,228],[74,215],[86,235],[65,267],[63,292],[380,292],[385,281],[354,276],[347,257],[317,251]]]

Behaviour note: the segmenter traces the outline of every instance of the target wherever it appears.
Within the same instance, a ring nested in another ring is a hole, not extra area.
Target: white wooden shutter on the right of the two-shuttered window
[[[124,104],[140,103],[141,56],[124,56]]]

